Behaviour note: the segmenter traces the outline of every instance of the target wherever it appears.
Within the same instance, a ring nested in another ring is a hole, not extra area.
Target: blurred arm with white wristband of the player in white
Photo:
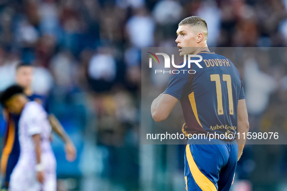
[[[34,145],[35,145],[35,153],[36,153],[36,165],[35,165],[35,170],[37,172],[37,179],[40,183],[44,182],[44,166],[41,164],[41,136],[40,134],[34,134],[32,136]]]

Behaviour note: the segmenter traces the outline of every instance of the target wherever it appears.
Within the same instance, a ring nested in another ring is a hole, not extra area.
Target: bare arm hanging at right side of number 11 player
[[[249,131],[248,113],[245,99],[238,100],[237,118],[238,118],[238,133],[239,133],[239,136],[237,136],[238,160],[239,160],[243,153],[243,148],[246,142],[246,135]],[[245,133],[245,137],[243,136],[242,133]]]

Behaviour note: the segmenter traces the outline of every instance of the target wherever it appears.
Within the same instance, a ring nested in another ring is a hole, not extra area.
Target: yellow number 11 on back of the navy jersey
[[[223,81],[227,83],[227,93],[228,93],[228,102],[229,102],[229,114],[234,114],[233,109],[233,98],[232,98],[232,86],[231,86],[231,77],[228,74],[222,75]],[[222,89],[219,74],[211,74],[210,80],[215,81],[216,85],[216,95],[217,95],[217,111],[219,115],[223,115],[223,105],[222,105]]]

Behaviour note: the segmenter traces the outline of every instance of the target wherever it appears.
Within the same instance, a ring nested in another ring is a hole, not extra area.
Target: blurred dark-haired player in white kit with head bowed
[[[20,156],[9,191],[56,191],[56,159],[47,112],[39,103],[29,101],[19,85],[2,92],[0,102],[9,112],[20,114]]]

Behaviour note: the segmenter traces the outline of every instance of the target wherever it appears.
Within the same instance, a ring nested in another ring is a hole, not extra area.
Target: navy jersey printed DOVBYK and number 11
[[[195,63],[190,68],[188,64],[179,68],[170,77],[164,93],[180,100],[186,136],[215,132],[235,135],[238,100],[245,99],[241,76],[229,59],[208,51],[199,55],[203,57],[199,63],[203,68]],[[196,72],[189,74],[189,70]]]

